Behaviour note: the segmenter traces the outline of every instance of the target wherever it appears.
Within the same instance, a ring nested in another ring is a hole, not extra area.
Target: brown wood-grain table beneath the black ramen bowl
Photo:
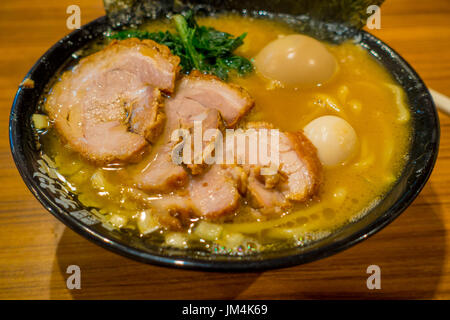
[[[439,159],[414,204],[371,239],[320,261],[247,274],[174,270],[120,257],[66,228],[22,182],[9,151],[8,118],[25,73],[68,33],[71,4],[80,6],[83,24],[104,14],[101,0],[0,6],[0,298],[450,298],[450,118],[443,114]],[[381,18],[373,33],[450,96],[450,1],[387,0]],[[81,267],[80,290],[66,288],[71,264]],[[381,267],[381,290],[366,287],[372,264]]]

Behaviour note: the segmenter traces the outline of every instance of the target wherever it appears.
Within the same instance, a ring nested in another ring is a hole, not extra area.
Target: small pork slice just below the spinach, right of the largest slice
[[[244,88],[199,71],[181,79],[177,96],[219,111],[227,128],[234,127],[254,105],[254,100]]]

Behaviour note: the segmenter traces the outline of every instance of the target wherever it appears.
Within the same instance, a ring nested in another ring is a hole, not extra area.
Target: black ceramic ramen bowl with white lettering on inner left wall
[[[65,192],[57,179],[42,167],[30,126],[30,116],[48,81],[74,52],[107,28],[107,19],[99,18],[58,41],[38,60],[25,77],[33,79],[35,87],[18,90],[9,127],[14,161],[31,192],[56,218],[106,249],[145,263],[205,270],[247,271],[302,264],[349,248],[381,230],[411,204],[431,174],[438,153],[439,122],[426,86],[398,53],[369,33],[357,31],[360,45],[392,74],[407,93],[413,127],[410,158],[403,173],[384,199],[364,217],[308,246],[245,257],[162,249],[138,237],[110,230],[90,214],[90,208],[85,208],[76,197]]]

